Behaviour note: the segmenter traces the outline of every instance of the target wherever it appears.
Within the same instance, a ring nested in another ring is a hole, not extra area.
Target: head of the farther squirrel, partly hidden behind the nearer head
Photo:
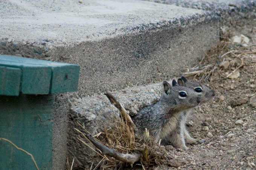
[[[215,96],[215,91],[208,88],[207,86],[204,86],[203,84],[200,84],[199,82],[189,82],[185,77],[181,77],[178,79],[178,84],[180,86],[185,86],[193,89],[198,96],[201,97],[201,104],[206,103],[207,101],[213,99]]]

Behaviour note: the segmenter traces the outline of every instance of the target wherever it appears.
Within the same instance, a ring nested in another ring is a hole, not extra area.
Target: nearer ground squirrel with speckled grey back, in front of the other
[[[185,144],[177,140],[182,134],[177,131],[180,115],[184,110],[197,106],[200,101],[201,98],[194,89],[179,86],[175,80],[172,81],[172,86],[165,81],[159,101],[144,107],[132,119],[140,134],[147,128],[156,141],[172,134],[175,136],[169,138],[172,145],[183,148]]]

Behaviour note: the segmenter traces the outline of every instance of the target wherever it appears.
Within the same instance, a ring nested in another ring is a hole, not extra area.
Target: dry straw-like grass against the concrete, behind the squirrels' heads
[[[250,46],[244,47],[232,43],[230,39],[226,38],[209,54],[206,54],[195,67],[187,69],[184,76],[193,76],[194,79],[203,82],[212,81],[213,77],[215,80],[229,78],[238,69],[248,65],[248,63],[244,63],[243,55],[253,53],[256,51],[251,51]],[[223,66],[225,61],[229,63],[229,67],[226,69]]]

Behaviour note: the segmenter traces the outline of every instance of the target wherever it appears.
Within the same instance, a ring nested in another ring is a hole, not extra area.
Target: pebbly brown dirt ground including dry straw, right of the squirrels
[[[167,151],[165,160],[148,169],[256,169],[256,25],[236,32],[221,29],[227,37],[184,73],[216,92],[212,101],[192,111],[187,122],[190,135],[206,142],[189,145],[187,151],[159,146]],[[147,169],[122,165],[117,169]]]

